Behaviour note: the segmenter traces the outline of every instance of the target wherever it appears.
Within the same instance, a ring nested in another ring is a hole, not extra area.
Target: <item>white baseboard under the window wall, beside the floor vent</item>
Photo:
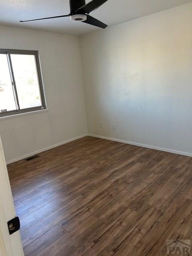
[[[14,159],[12,159],[12,160],[9,160],[9,161],[6,162],[6,164],[11,164],[11,163],[13,163],[13,162],[16,162],[16,161],[25,159],[25,158],[27,158],[27,157],[36,155],[36,154],[41,153],[41,152],[43,152],[43,151],[49,150],[49,149],[51,149],[51,148],[56,148],[56,147],[58,147],[58,146],[61,146],[61,145],[63,145],[63,144],[66,144],[66,143],[68,143],[68,142],[71,142],[71,141],[73,141],[73,140],[78,140],[78,139],[83,138],[83,137],[85,137],[85,136],[87,136],[87,134],[84,134],[84,135],[81,135],[81,136],[77,136],[77,137],[72,138],[72,139],[70,139],[70,140],[66,140],[66,141],[64,141],[64,142],[60,142],[60,143],[58,143],[58,144],[54,144],[54,145],[49,146],[49,147],[46,147],[46,148],[42,148],[42,149],[37,150],[37,151],[35,151],[35,152],[31,152],[31,153],[26,154],[26,155],[24,155],[24,156],[20,156],[20,157],[18,157],[18,158],[14,158]]]

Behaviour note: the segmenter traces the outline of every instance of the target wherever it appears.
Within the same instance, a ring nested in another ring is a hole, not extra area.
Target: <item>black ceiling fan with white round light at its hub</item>
[[[48,18],[40,18],[35,20],[46,20],[46,19],[70,16],[71,20],[73,21],[84,22],[93,26],[97,26],[99,28],[106,28],[107,27],[106,24],[89,15],[94,10],[102,6],[102,4],[104,4],[106,1],[108,0],[92,0],[88,2],[88,4],[86,4],[85,0],[69,0],[70,14],[48,17]],[[20,20],[20,22],[26,22],[26,21],[33,21],[33,20]]]

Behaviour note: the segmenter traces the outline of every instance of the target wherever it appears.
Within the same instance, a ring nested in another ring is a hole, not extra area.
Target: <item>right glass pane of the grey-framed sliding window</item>
[[[34,55],[11,54],[20,109],[41,106]]]

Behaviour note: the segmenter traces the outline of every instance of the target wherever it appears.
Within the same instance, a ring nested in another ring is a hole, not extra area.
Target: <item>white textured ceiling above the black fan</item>
[[[113,26],[189,2],[192,0],[108,0],[91,15]],[[70,35],[82,35],[99,29],[82,22],[72,22],[70,17],[19,22],[69,13],[68,0],[0,0],[0,25]]]

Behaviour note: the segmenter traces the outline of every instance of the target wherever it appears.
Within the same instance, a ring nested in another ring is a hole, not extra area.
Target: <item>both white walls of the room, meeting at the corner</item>
[[[80,49],[0,26],[0,48],[39,50],[49,109],[0,120],[8,162],[86,134],[86,116],[89,134],[192,154],[192,3],[84,35]]]

